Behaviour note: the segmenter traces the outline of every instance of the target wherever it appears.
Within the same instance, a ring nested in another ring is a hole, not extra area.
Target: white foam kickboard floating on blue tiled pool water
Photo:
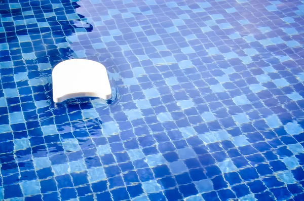
[[[57,64],[52,71],[53,100],[61,103],[71,98],[112,97],[104,65],[87,59],[70,59]]]

